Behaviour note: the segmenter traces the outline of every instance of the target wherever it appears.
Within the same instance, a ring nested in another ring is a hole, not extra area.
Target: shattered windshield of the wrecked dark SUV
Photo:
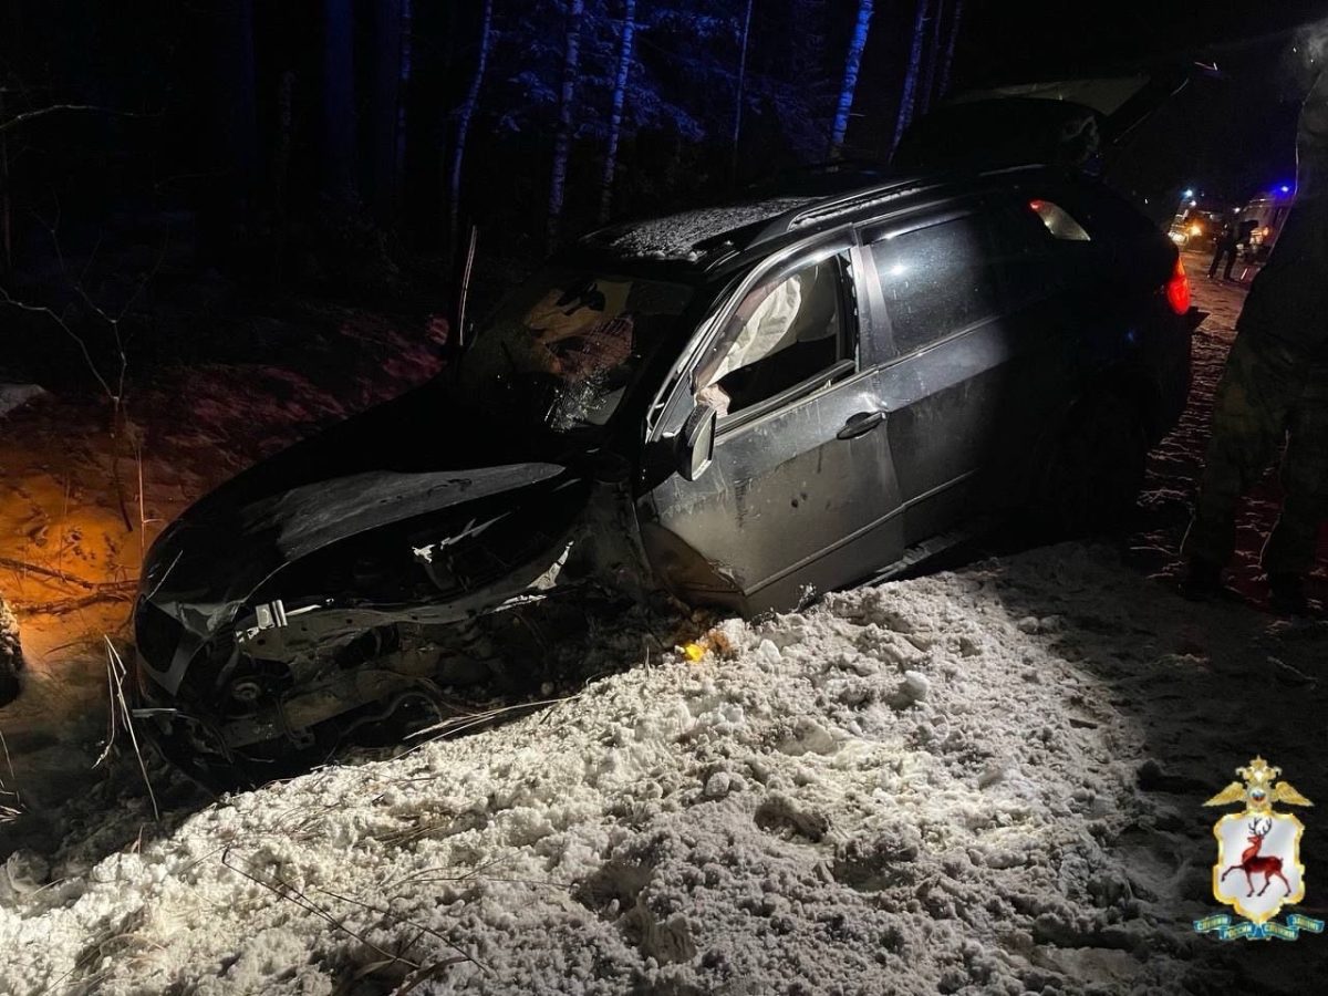
[[[461,398],[558,433],[603,426],[691,296],[681,284],[544,270],[466,352]]]

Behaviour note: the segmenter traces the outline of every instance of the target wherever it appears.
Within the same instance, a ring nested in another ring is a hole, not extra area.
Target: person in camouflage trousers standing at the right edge
[[[1308,608],[1304,575],[1328,513],[1328,72],[1296,131],[1296,206],[1236,321],[1214,397],[1212,438],[1181,544],[1185,590],[1216,594],[1235,548],[1240,495],[1286,441],[1282,514],[1263,547],[1274,608]]]

